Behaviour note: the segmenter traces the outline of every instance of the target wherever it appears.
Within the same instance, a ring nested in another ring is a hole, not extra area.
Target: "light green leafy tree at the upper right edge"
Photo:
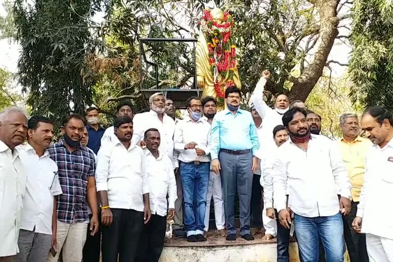
[[[349,72],[353,102],[393,110],[393,4],[355,0]]]

